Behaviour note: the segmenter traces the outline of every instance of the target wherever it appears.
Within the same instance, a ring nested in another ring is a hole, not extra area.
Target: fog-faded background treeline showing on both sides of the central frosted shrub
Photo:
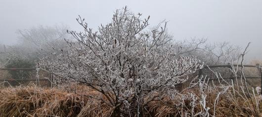
[[[37,26],[18,29],[19,39],[14,45],[0,44],[0,64],[3,67],[10,59],[25,59],[36,63],[39,58],[66,50],[65,40],[74,41],[67,33],[69,27]],[[172,38],[172,37],[170,37]],[[227,64],[239,58],[241,47],[228,42],[210,43],[206,38],[174,40],[176,55],[193,55],[209,65]]]

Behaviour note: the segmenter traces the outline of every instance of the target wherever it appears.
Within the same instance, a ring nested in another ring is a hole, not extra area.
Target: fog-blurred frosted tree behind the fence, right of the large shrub
[[[176,40],[174,45],[176,55],[194,55],[208,65],[236,62],[241,50],[240,46],[228,42],[210,44],[205,38]]]

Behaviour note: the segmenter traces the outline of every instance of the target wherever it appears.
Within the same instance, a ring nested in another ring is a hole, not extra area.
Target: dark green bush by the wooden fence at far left
[[[6,68],[31,68],[34,67],[35,64],[32,61],[25,59],[11,59],[7,64]],[[26,79],[31,74],[29,70],[9,70],[8,73],[11,75],[13,79]]]

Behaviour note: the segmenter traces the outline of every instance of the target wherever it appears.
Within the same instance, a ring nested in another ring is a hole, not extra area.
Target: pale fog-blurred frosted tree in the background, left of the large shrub
[[[53,27],[38,26],[30,29],[17,30],[18,43],[7,46],[6,55],[9,58],[20,58],[36,60],[40,56],[49,55],[59,49],[63,49],[66,45],[64,38],[68,38],[66,32],[68,27],[57,25]],[[41,53],[41,54],[40,54]]]

